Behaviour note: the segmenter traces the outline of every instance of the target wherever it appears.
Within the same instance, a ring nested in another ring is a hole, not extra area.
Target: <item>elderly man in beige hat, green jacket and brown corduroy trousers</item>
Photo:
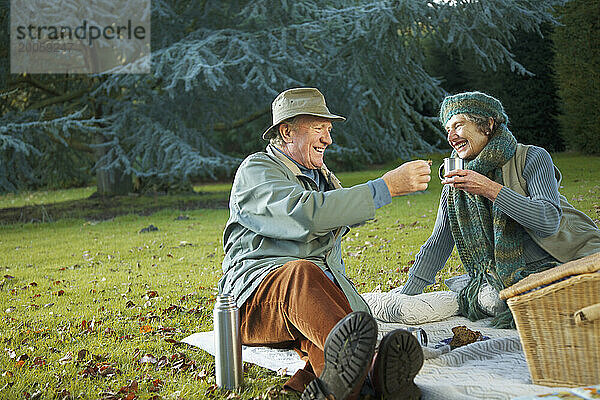
[[[330,113],[313,88],[284,91],[272,111],[266,151],[250,155],[236,173],[223,235],[219,290],[240,307],[242,342],[294,349],[306,359],[286,383],[303,399],[355,398],[370,370],[378,395],[418,398],[413,378],[422,350],[398,330],[374,357],[377,325],[346,277],[341,239],[348,225],[373,218],[392,197],[425,190],[428,163],[408,162],[342,188],[323,158],[332,121],[345,118]]]

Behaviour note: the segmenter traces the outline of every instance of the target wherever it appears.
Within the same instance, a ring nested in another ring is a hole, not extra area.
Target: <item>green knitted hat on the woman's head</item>
[[[504,117],[504,124],[508,124],[508,115],[504,112],[500,100],[481,92],[464,92],[447,96],[440,107],[440,121],[442,126],[456,114],[477,114],[492,117],[496,120]]]

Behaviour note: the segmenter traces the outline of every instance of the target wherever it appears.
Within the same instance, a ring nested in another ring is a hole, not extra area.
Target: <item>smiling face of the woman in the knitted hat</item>
[[[477,157],[490,140],[477,124],[469,121],[463,114],[456,114],[448,120],[446,132],[448,143],[463,160]]]

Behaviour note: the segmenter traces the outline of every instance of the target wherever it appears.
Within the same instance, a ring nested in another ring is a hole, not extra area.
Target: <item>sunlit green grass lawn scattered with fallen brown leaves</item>
[[[554,160],[561,192],[598,221],[600,158]],[[350,186],[382,173],[339,177]],[[0,196],[0,398],[286,396],[285,377],[250,365],[241,390],[219,391],[212,356],[178,343],[212,329],[228,217],[223,208],[197,207],[222,207],[229,185],[196,189],[202,195],[128,197],[111,212],[86,203],[91,188]],[[348,274],[359,291],[405,281],[433,228],[439,192],[433,178],[426,192],[394,199],[346,236]],[[140,233],[149,225],[158,230]],[[458,272],[454,254],[430,290]]]

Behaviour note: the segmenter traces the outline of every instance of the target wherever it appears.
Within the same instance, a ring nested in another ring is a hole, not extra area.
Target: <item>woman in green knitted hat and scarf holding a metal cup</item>
[[[500,101],[480,92],[448,96],[440,121],[452,157],[462,158],[465,169],[446,171],[433,232],[408,281],[395,291],[421,293],[456,245],[468,273],[461,313],[514,326],[497,293],[529,274],[600,251],[600,231],[559,194],[561,175],[548,152],[517,143]]]

